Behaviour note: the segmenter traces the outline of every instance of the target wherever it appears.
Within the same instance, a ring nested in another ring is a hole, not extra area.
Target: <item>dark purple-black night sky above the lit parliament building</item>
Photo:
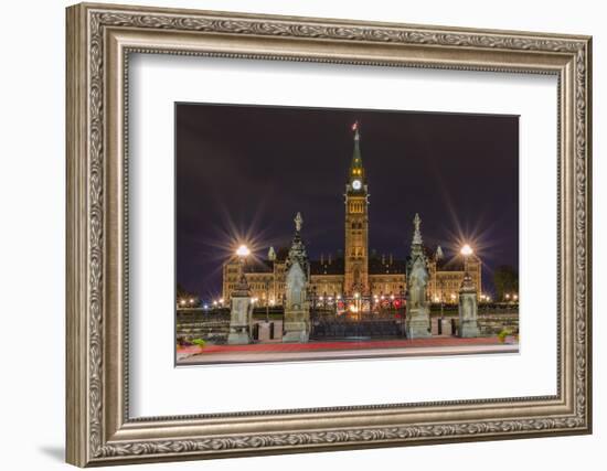
[[[405,258],[413,217],[447,258],[470,242],[492,270],[519,267],[519,118],[385,110],[175,105],[177,282],[221,293],[242,242],[265,258],[303,216],[308,254],[343,250],[352,124],[370,193],[369,248]]]

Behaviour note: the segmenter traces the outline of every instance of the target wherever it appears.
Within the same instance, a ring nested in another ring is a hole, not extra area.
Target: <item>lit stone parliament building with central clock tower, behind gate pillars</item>
[[[320,301],[339,299],[402,299],[406,291],[406,259],[392,254],[377,255],[369,250],[369,183],[362,163],[360,132],[354,131],[354,151],[344,193],[344,249],[337,256],[321,255],[309,261],[309,286]],[[446,260],[440,246],[424,246],[429,275],[426,297],[429,302],[457,303],[458,291],[466,272],[478,293],[482,292],[481,260],[471,255]],[[281,306],[285,300],[288,247],[269,247],[265,260],[248,260],[244,272],[251,296],[257,306]],[[232,257],[223,265],[222,296],[230,302],[238,285],[239,260]]]

